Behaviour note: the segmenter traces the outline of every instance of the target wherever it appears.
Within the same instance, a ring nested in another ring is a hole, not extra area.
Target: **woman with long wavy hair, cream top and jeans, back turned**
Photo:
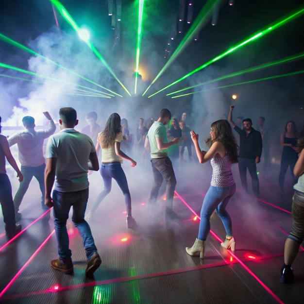
[[[92,215],[102,200],[110,193],[112,178],[114,178],[124,195],[127,209],[128,228],[133,228],[136,225],[136,221],[132,217],[131,195],[126,175],[121,168],[121,163],[122,159],[124,158],[131,162],[132,167],[135,167],[136,162],[120,150],[120,144],[122,141],[121,129],[120,116],[117,113],[113,113],[108,118],[104,130],[97,137],[98,144],[96,146],[96,151],[98,152],[100,148],[102,151],[100,173],[102,176],[104,189],[93,203],[93,207],[87,214],[86,219],[92,218]]]

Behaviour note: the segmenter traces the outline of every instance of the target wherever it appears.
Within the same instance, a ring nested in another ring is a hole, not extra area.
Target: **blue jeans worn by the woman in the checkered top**
[[[216,210],[224,225],[226,236],[232,236],[232,223],[231,218],[226,211],[226,206],[235,192],[236,184],[228,187],[209,187],[201,209],[201,222],[198,239],[203,241],[206,240],[210,231],[210,217],[214,210]]]

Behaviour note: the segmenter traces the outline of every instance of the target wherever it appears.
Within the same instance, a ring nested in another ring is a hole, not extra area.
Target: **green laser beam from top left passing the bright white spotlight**
[[[59,13],[66,19],[66,21],[70,24],[70,26],[78,33],[80,28],[77,25],[77,23],[74,21],[74,19],[68,14],[68,11],[64,8],[64,6],[58,1],[58,0],[50,0],[51,3],[57,8]],[[109,67],[109,65],[106,63],[106,61],[101,56],[101,53],[97,51],[95,46],[89,41],[84,40],[84,42],[87,44],[87,46],[93,51],[93,53],[97,56],[98,59],[102,62],[102,64],[107,68],[107,70],[110,72],[110,74],[118,81],[118,83],[123,87],[123,89],[131,96],[127,88],[120,82],[118,77],[115,75],[113,70]]]

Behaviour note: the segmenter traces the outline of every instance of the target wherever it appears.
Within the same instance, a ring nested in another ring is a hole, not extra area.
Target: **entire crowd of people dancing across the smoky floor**
[[[73,207],[72,221],[84,240],[87,257],[85,274],[93,276],[101,265],[101,257],[97,252],[94,238],[87,220],[93,220],[100,203],[110,193],[112,179],[120,187],[126,206],[126,223],[134,228],[136,221],[132,216],[131,194],[126,175],[121,166],[123,160],[136,166],[133,154],[140,161],[147,161],[150,153],[152,168],[152,188],[148,199],[148,209],[153,212],[163,181],[166,181],[165,218],[169,222],[177,222],[180,218],[173,211],[173,197],[176,186],[175,171],[179,163],[186,161],[184,151],[187,149],[188,160],[194,161],[191,146],[200,164],[210,161],[212,177],[209,189],[201,208],[201,221],[197,238],[192,247],[186,247],[186,253],[199,255],[203,259],[205,241],[210,232],[210,217],[214,211],[223,223],[226,236],[221,246],[235,251],[236,240],[232,233],[232,219],[226,206],[236,192],[236,183],[232,173],[232,165],[238,163],[241,185],[248,192],[247,169],[252,179],[253,195],[260,196],[259,179],[256,165],[260,163],[263,152],[263,168],[269,166],[269,132],[264,127],[265,118],[259,117],[258,130],[253,128],[251,118],[237,117],[234,122],[230,107],[228,119],[220,119],[211,124],[210,136],[205,139],[208,148],[200,147],[199,134],[187,124],[186,112],[178,120],[171,116],[168,109],[162,109],[156,121],[150,119],[144,125],[139,118],[136,129],[136,140],[130,133],[126,118],[113,113],[107,119],[105,127],[97,124],[97,113],[86,115],[88,125],[81,132],[75,130],[78,125],[76,110],[71,107],[59,111],[60,132],[55,133],[56,126],[48,112],[44,116],[49,120],[47,130],[35,130],[35,120],[31,116],[22,119],[24,130],[14,135],[0,135],[0,203],[6,236],[10,239],[21,231],[16,224],[22,217],[19,206],[35,177],[42,193],[41,207],[53,208],[54,226],[58,242],[58,258],[51,261],[51,267],[64,273],[73,272],[71,250],[67,233],[67,220]],[[1,122],[1,120],[0,120]],[[284,266],[281,270],[282,283],[293,282],[291,267],[304,239],[304,132],[299,135],[294,121],[287,121],[285,132],[281,134],[280,144],[283,146],[279,186],[284,191],[284,180],[288,167],[293,179],[294,195],[292,198],[292,229],[285,242]],[[43,143],[49,138],[46,153]],[[135,141],[135,143],[134,143]],[[10,151],[17,144],[18,158],[21,168]],[[135,144],[136,152],[132,153]],[[101,152],[101,162],[98,154]],[[131,157],[132,156],[132,157]],[[46,158],[46,160],[45,160]],[[17,172],[19,187],[12,197],[12,186],[6,174],[6,160]],[[86,211],[88,201],[88,173],[98,171],[103,180],[103,190],[97,196],[90,210]]]

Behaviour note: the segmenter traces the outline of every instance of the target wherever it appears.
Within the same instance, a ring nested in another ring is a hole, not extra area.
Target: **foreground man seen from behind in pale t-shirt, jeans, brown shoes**
[[[66,227],[68,213],[73,206],[72,221],[84,240],[87,257],[85,274],[91,277],[101,265],[101,258],[90,227],[84,220],[84,212],[89,194],[87,171],[98,171],[98,158],[91,138],[74,130],[78,124],[76,111],[73,108],[61,108],[59,116],[61,131],[51,136],[46,152],[45,204],[53,207],[59,255],[58,259],[51,261],[51,267],[64,273],[73,272]],[[51,189],[55,175],[52,200]]]

